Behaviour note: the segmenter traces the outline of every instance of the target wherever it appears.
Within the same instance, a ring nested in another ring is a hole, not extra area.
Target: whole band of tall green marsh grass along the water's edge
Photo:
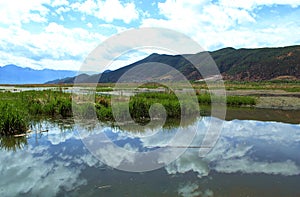
[[[72,117],[72,95],[61,89],[58,90],[1,92],[0,135],[24,133],[30,125],[29,121],[37,117]],[[180,101],[177,96],[180,97]],[[224,99],[217,96],[213,97],[217,102]],[[151,118],[163,118],[164,115],[167,119],[198,116],[198,104],[210,105],[211,98],[209,94],[199,93],[197,95],[198,103],[193,103],[189,100],[191,99],[189,95],[184,96],[180,93],[175,95],[171,91],[144,92],[129,97],[129,104],[120,100],[115,106],[112,106],[111,96],[96,95],[95,103],[83,103],[74,107],[78,112],[76,114],[81,118],[93,118],[96,114],[101,121],[133,119],[145,123],[149,122]],[[249,96],[228,96],[226,102],[229,106],[252,106],[256,104],[255,98]]]

